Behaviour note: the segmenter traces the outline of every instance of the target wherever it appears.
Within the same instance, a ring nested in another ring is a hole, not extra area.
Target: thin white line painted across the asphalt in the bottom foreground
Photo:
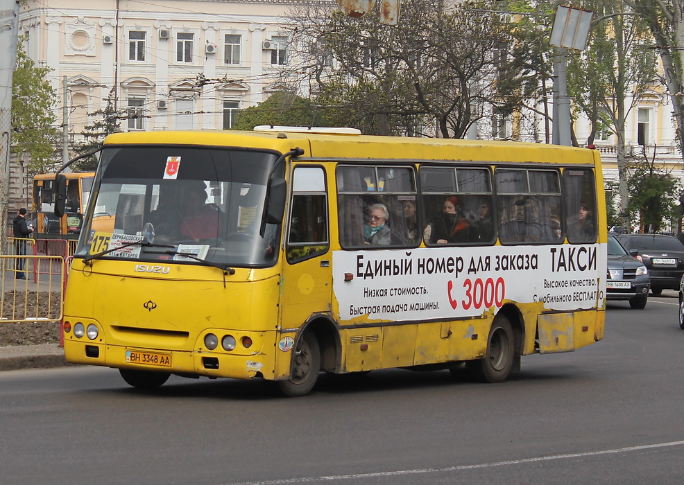
[[[244,484],[237,485],[280,485],[280,484],[296,484],[305,482],[324,482],[326,480],[347,480],[347,479],[358,479],[358,478],[373,478],[373,477],[392,477],[399,475],[418,475],[420,473],[443,473],[452,472],[458,470],[474,470],[476,468],[489,468],[493,466],[506,466],[506,465],[518,465],[524,463],[535,463],[538,461],[549,461],[567,458],[580,458],[580,457],[595,457],[599,455],[613,455],[615,453],[624,453],[630,451],[640,451],[640,450],[652,450],[653,448],[667,448],[673,446],[682,446],[683,441],[669,441],[667,443],[653,443],[651,445],[642,446],[628,446],[626,448],[614,448],[613,450],[602,450],[602,451],[588,451],[582,453],[565,453],[563,455],[550,455],[548,457],[534,457],[534,458],[524,458],[519,460],[507,460],[507,461],[495,461],[493,463],[484,463],[478,465],[459,465],[459,466],[445,466],[444,468],[416,468],[414,470],[396,470],[393,472],[377,472],[377,473],[356,473],[352,475],[324,475],[322,477],[303,477],[303,478],[289,478],[289,479],[278,479],[278,480],[266,480],[264,482],[245,482]]]

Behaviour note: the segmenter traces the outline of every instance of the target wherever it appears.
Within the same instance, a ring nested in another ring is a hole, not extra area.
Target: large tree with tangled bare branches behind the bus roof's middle
[[[463,138],[500,105],[495,58],[510,37],[491,4],[406,0],[385,26],[309,3],[291,12],[299,62],[287,80],[364,132]]]

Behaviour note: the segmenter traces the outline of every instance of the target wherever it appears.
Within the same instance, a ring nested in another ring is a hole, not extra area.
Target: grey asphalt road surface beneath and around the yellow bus
[[[501,385],[446,371],[263,382],[172,377],[156,393],[90,367],[0,373],[3,484],[680,484],[676,293],[610,303],[606,338],[531,355]]]

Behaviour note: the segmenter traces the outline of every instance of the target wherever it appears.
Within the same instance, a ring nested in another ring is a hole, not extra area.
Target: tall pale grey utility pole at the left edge
[[[12,131],[12,73],[17,64],[19,0],[0,0],[0,254],[7,251],[7,213],[10,195],[10,132]]]

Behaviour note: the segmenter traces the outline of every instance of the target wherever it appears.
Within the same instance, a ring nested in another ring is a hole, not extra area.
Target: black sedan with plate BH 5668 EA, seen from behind
[[[674,236],[664,234],[615,234],[628,252],[638,251],[640,259],[651,275],[651,293],[679,290],[684,275],[684,245]]]

